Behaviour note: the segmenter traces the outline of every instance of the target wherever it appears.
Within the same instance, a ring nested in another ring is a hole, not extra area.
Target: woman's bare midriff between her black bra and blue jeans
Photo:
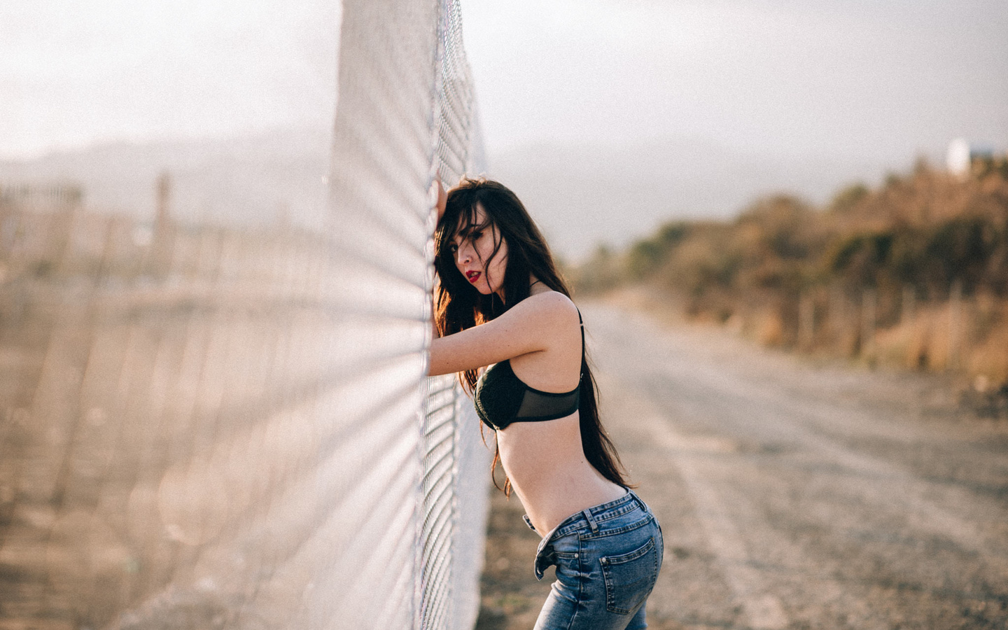
[[[626,490],[588,463],[578,412],[513,422],[497,431],[504,472],[540,536],[572,514],[619,499]]]

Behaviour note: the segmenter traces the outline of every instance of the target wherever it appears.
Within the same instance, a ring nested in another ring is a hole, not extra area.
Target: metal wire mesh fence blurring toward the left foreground
[[[473,627],[489,453],[424,376],[428,186],[484,168],[460,9],[340,15],[318,207],[0,187],[0,629]]]

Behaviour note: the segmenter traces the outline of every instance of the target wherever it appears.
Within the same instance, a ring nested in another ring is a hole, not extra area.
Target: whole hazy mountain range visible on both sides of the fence
[[[28,161],[0,160],[0,182],[73,180],[85,203],[140,219],[154,215],[158,175],[171,175],[182,221],[269,224],[281,216],[321,225],[330,132],[285,129],[243,137],[106,144]],[[880,166],[827,158],[745,154],[694,139],[638,146],[538,144],[491,152],[490,174],[528,206],[561,256],[621,247],[676,218],[724,218],[760,196],[812,202]]]

